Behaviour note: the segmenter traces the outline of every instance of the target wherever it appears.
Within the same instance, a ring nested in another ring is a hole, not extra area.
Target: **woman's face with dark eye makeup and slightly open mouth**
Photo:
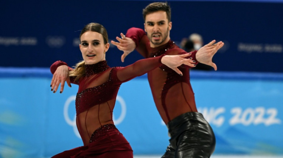
[[[80,50],[85,64],[95,64],[105,60],[105,52],[109,43],[104,44],[102,34],[94,31],[87,31],[80,37]]]

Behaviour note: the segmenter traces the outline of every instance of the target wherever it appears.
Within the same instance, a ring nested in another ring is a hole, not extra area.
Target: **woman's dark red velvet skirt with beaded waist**
[[[52,158],[133,158],[130,143],[113,124],[99,127],[91,135],[90,143],[63,151]]]

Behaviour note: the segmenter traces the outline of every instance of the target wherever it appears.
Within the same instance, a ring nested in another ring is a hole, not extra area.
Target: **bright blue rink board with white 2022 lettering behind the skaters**
[[[198,111],[211,124],[214,154],[283,154],[283,74],[191,71]],[[74,123],[78,86],[50,91],[48,68],[1,68],[0,157],[51,157],[82,146]],[[113,120],[134,154],[164,153],[167,128],[146,75],[120,87]]]

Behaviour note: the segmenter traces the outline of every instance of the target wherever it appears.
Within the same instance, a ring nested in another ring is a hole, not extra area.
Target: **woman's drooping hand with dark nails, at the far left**
[[[57,91],[60,83],[61,83],[60,93],[62,93],[64,90],[65,81],[67,81],[68,86],[71,87],[70,77],[68,74],[69,74],[69,68],[66,65],[61,65],[56,69],[55,73],[53,74],[50,85],[51,91],[53,90],[53,93]]]

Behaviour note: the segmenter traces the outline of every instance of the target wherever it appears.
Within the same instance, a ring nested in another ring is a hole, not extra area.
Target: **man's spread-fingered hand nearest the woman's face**
[[[122,38],[116,37],[119,42],[111,41],[111,43],[124,52],[121,56],[121,60],[124,62],[126,56],[136,49],[136,43],[131,38],[126,37],[123,33],[121,33],[121,37]]]

